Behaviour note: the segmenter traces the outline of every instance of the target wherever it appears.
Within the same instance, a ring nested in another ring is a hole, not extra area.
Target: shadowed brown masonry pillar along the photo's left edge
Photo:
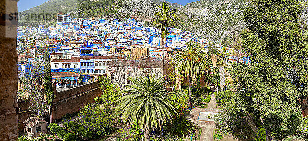
[[[17,1],[0,1],[0,14],[0,140],[17,140]]]

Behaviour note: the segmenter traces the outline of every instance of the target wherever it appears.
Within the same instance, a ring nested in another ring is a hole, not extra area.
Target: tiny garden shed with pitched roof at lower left
[[[47,122],[38,117],[30,117],[24,121],[25,133],[28,136],[37,137],[41,133],[47,133]]]

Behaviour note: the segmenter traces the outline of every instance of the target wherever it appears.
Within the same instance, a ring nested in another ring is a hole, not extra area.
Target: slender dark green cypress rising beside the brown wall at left
[[[50,65],[50,58],[49,53],[45,55],[44,59],[44,80],[43,80],[43,91],[46,96],[46,102],[49,105],[49,119],[52,122],[52,102],[55,98],[52,88],[52,76],[51,76],[51,65]]]

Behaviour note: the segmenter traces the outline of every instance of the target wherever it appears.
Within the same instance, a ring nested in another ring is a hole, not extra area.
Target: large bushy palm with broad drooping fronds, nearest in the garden
[[[142,128],[145,140],[150,140],[150,128],[159,127],[162,131],[166,123],[172,121],[172,113],[177,114],[162,78],[129,77],[133,85],[127,84],[129,89],[120,91],[124,93],[118,100],[122,120]]]

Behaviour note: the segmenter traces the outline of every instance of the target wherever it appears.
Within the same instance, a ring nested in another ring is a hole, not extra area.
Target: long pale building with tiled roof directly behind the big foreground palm
[[[163,72],[163,73],[162,73]],[[112,82],[124,89],[123,84],[131,84],[129,77],[155,75],[156,78],[166,75],[168,72],[168,62],[164,62],[162,71],[161,61],[145,60],[113,60],[107,64],[107,75]]]

